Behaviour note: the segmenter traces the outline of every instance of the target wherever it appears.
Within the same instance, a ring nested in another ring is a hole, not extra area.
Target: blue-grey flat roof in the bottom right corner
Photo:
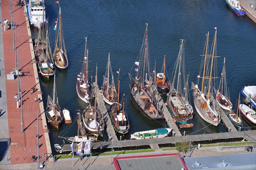
[[[218,155],[218,156],[202,156],[184,158],[186,166],[190,170],[255,170],[256,169],[256,153],[239,153],[232,155]],[[223,167],[222,163],[227,166]],[[197,166],[198,162],[200,165]]]

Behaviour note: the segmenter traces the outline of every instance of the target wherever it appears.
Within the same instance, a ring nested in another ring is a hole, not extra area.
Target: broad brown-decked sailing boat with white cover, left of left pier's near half
[[[96,87],[98,85],[97,82],[97,67],[96,67]],[[95,89],[95,101],[94,101],[94,107],[91,106],[91,104],[89,103],[89,105],[86,107],[86,109],[83,111],[83,122],[84,122],[84,127],[85,129],[95,135],[100,135],[102,136],[102,131],[104,130],[105,127],[105,122],[104,119],[102,118],[102,115],[97,107],[97,90]]]

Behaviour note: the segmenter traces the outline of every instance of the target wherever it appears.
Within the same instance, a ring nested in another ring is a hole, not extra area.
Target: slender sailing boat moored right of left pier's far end
[[[110,74],[111,74],[111,83],[110,83]],[[103,84],[101,89],[101,94],[104,102],[106,102],[108,105],[112,105],[117,100],[117,93],[115,88],[115,83],[113,79],[113,73],[111,69],[111,63],[110,63],[110,53],[108,54],[108,63],[106,68],[105,76],[103,76]]]

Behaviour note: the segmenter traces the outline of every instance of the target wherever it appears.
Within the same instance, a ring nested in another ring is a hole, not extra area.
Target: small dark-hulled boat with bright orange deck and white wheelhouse
[[[170,83],[168,81],[168,79],[166,79],[166,75],[165,75],[165,60],[166,60],[166,55],[164,55],[164,59],[163,59],[163,70],[161,72],[163,73],[157,73],[157,90],[160,93],[169,93],[170,91]]]

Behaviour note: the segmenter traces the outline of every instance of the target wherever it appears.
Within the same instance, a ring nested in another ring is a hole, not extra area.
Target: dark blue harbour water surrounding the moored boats
[[[56,84],[58,101],[62,108],[67,108],[76,118],[76,109],[83,111],[85,104],[76,95],[76,78],[79,74],[84,55],[84,37],[88,37],[87,49],[89,69],[95,77],[98,66],[98,84],[102,85],[103,74],[111,52],[111,64],[115,81],[116,71],[121,69],[121,91],[126,94],[130,132],[125,135],[165,127],[165,121],[146,119],[135,109],[129,94],[128,77],[135,59],[140,51],[148,23],[148,42],[151,66],[157,65],[157,72],[161,71],[163,56],[166,54],[166,68],[171,77],[172,69],[179,51],[180,39],[186,40],[185,61],[186,71],[190,72],[191,82],[196,82],[201,63],[206,34],[209,31],[209,45],[217,27],[217,59],[218,73],[221,73],[224,57],[226,57],[227,82],[230,97],[235,107],[239,91],[244,85],[256,85],[256,24],[249,17],[238,17],[223,0],[130,0],[130,1],[81,1],[59,0],[61,5],[62,24],[65,45],[69,59],[69,67],[65,70],[57,69]],[[47,17],[49,17],[49,33],[54,49],[55,20],[58,17],[58,4],[54,1],[46,2]],[[32,28],[32,34],[37,34]],[[47,95],[52,93],[53,79],[45,82],[41,79],[44,104]],[[192,101],[192,91],[190,91]],[[193,102],[192,102],[193,103]],[[194,109],[195,110],[195,109]],[[186,129],[186,134],[226,132],[223,125],[208,126],[197,113],[193,119],[195,126]],[[245,121],[244,124],[248,125]],[[208,127],[206,127],[208,126]],[[204,128],[206,127],[206,128]],[[58,135],[66,125],[58,130],[50,130],[52,143],[62,143]],[[204,128],[204,129],[202,129]],[[65,136],[77,133],[75,123]],[[183,130],[181,131],[183,134]],[[99,140],[108,140],[99,138]],[[66,142],[67,143],[67,142]]]

